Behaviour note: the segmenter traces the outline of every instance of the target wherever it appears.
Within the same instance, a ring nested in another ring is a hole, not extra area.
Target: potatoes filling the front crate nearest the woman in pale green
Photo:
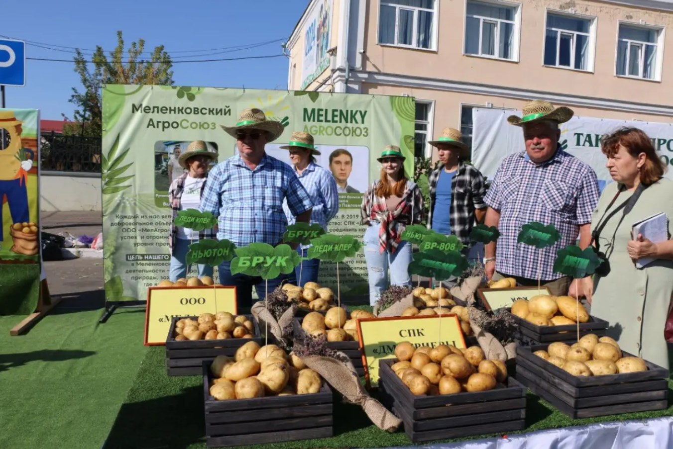
[[[622,357],[622,351],[614,339],[598,338],[593,333],[584,335],[572,346],[556,341],[546,351],[540,350],[533,354],[573,376],[606,376],[647,371],[645,360],[639,357]]]

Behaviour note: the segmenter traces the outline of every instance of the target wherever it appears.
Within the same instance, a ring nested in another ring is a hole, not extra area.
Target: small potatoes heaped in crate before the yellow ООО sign
[[[244,315],[228,312],[202,313],[197,320],[183,318],[175,323],[176,341],[252,338],[254,325]]]

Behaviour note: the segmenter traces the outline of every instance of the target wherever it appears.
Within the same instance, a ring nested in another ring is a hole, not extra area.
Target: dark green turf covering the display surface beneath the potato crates
[[[166,351],[150,348],[138,371],[133,388],[122,405],[110,432],[106,449],[112,448],[205,448],[203,385],[200,376],[169,377],[166,375]],[[669,383],[673,386],[673,383]],[[669,397],[673,397],[669,392]],[[376,397],[376,395],[374,395]],[[586,425],[606,421],[647,419],[673,415],[673,405],[662,411],[627,413],[590,419],[570,419],[552,405],[528,394],[524,432]],[[522,432],[509,432],[516,434]],[[488,438],[498,434],[474,436]],[[443,440],[454,442],[459,438]],[[402,430],[388,434],[367,419],[359,407],[334,403],[334,437],[296,442],[274,442],[274,449],[312,448],[374,448],[409,446],[411,440]],[[270,446],[250,446],[261,449]]]

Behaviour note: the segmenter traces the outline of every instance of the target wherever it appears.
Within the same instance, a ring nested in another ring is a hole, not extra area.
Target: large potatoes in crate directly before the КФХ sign
[[[563,326],[589,321],[584,306],[577,304],[572,296],[538,294],[530,301],[520,299],[511,304],[511,313],[538,326]]]

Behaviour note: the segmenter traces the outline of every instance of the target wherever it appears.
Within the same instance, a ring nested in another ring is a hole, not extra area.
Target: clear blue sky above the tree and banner
[[[28,3],[30,9],[24,1],[2,2],[0,35],[52,46],[93,49],[100,45],[111,51],[116,46],[117,30],[122,30],[127,48],[131,42],[143,38],[146,51],[164,44],[174,61],[178,61],[280,54],[284,41],[236,52],[176,58],[199,54],[185,50],[287,40],[308,0],[110,3],[31,0]],[[60,50],[65,52],[34,45],[26,48],[29,58],[72,59],[74,50]],[[205,53],[208,52],[201,52]],[[71,117],[74,110],[68,102],[71,88],[81,89],[73,63],[28,60],[27,64],[26,86],[6,88],[7,108],[37,108],[41,110],[41,118],[49,120],[61,120],[61,113]],[[287,58],[174,64],[173,79],[177,85],[285,89]]]

